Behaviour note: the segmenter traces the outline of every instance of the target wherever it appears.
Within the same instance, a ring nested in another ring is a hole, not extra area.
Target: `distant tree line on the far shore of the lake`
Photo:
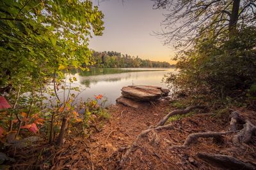
[[[143,60],[120,52],[93,52],[97,67],[171,67],[168,62]]]

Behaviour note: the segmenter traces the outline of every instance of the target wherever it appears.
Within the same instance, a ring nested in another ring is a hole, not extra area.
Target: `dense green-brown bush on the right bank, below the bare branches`
[[[209,32],[180,57],[180,74],[170,74],[165,81],[179,93],[244,96],[256,81],[255,47],[256,27],[246,27],[232,38],[214,38]]]

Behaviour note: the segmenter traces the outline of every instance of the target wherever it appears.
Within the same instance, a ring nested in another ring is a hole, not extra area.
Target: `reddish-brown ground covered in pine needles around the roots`
[[[239,110],[241,117],[250,118],[252,124],[256,124],[254,111],[232,109]],[[191,117],[171,122],[175,127],[173,130],[148,133],[140,139],[129,159],[124,164],[120,164],[127,146],[132,144],[138,134],[151,125],[156,125],[172,110],[174,108],[167,100],[138,110],[123,105],[113,105],[109,108],[111,118],[100,132],[94,132],[90,138],[67,138],[59,149],[54,146],[38,149],[49,150],[54,154],[40,155],[42,160],[34,161],[34,165],[30,165],[29,169],[218,169],[198,159],[196,157],[198,152],[230,155],[244,162],[256,164],[255,136],[248,145],[244,145],[245,152],[232,148],[231,139],[234,134],[224,136],[223,141],[218,143],[212,138],[207,138],[198,139],[198,143],[186,149],[170,148],[173,145],[182,145],[186,137],[194,132],[228,130],[229,113],[213,115],[199,110],[196,110],[196,114]],[[29,153],[31,152],[26,154]],[[51,161],[51,166],[45,164],[47,160]],[[28,164],[16,164],[13,169],[26,169],[21,167],[28,167]]]

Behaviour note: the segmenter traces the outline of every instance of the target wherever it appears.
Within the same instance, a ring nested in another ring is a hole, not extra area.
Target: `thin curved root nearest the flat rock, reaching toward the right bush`
[[[185,110],[173,110],[170,113],[168,113],[162,120],[160,120],[160,122],[158,122],[156,127],[164,125],[165,122],[168,120],[168,118],[173,117],[175,115],[185,115],[185,114],[189,113],[192,110],[205,109],[205,108],[206,108],[206,106],[191,106],[189,108],[186,108]]]

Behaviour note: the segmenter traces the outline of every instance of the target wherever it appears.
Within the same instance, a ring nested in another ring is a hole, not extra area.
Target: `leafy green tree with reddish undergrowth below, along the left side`
[[[15,138],[40,131],[52,142],[61,120],[79,122],[76,96],[70,93],[77,89],[66,85],[67,79],[76,79],[67,73],[92,65],[88,41],[93,34],[102,35],[103,17],[89,0],[0,2],[0,93],[12,106],[1,110],[0,136],[4,131],[15,131]],[[45,94],[52,95],[51,85],[58,100],[49,108],[44,100]],[[60,89],[63,100],[57,94]]]

